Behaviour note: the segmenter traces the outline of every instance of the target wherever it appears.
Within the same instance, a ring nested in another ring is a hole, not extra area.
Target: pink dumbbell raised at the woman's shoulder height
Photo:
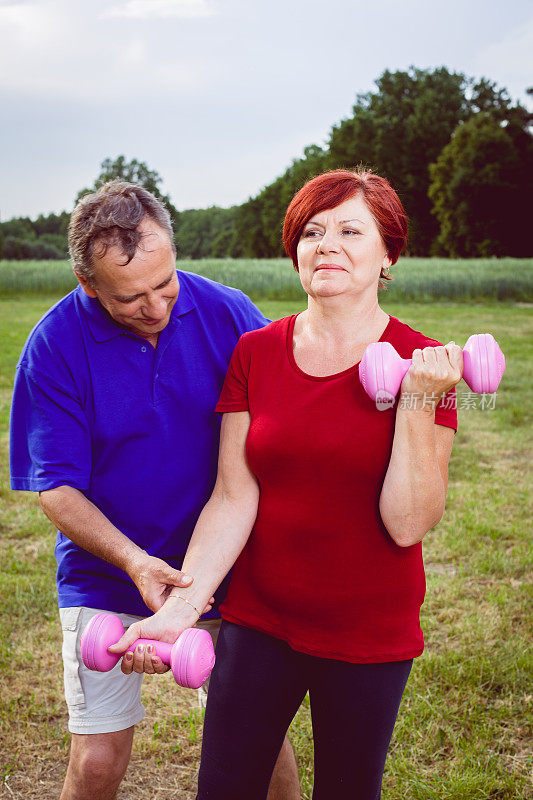
[[[372,400],[395,398],[412,359],[401,358],[390,342],[373,342],[359,365],[361,383]],[[495,392],[505,372],[505,356],[490,333],[471,336],[463,347],[463,378],[473,392]]]

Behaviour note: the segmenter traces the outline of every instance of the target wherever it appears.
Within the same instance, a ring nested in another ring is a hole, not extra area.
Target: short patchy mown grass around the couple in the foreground
[[[28,800],[59,795],[69,737],[55,534],[35,496],[8,489],[7,421],[19,351],[59,293],[0,300],[0,795]],[[302,307],[297,300],[259,305],[271,318]],[[464,343],[471,333],[493,332],[507,372],[493,410],[459,411],[447,511],[424,542],[426,651],[407,685],[383,797],[531,800],[531,309],[516,303],[407,304],[392,291],[385,308],[441,341]],[[460,384],[458,392],[466,391]],[[192,798],[202,727],[195,693],[178,689],[168,675],[145,680],[143,692],[147,718],[138,727],[119,796]],[[290,738],[309,799],[313,766],[305,703]]]

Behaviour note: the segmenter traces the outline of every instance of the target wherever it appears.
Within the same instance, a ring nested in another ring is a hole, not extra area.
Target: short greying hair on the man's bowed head
[[[93,255],[102,258],[110,245],[119,247],[127,259],[124,266],[129,264],[142,239],[139,224],[146,217],[168,234],[174,247],[168,210],[142,186],[114,180],[82,197],[72,212],[68,228],[74,272],[93,286]]]

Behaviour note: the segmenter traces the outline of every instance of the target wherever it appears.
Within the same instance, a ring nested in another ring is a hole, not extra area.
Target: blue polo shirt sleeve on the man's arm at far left
[[[10,419],[11,488],[42,492],[68,485],[84,491],[91,475],[91,437],[74,383],[17,368]]]

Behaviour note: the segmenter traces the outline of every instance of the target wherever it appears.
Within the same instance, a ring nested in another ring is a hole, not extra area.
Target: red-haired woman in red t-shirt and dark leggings
[[[308,308],[239,340],[217,405],[218,478],[183,564],[194,582],[117,645],[173,641],[236,562],[206,711],[202,800],[266,797],[308,691],[313,797],[380,797],[423,650],[420,542],[444,512],[457,427],[450,403],[435,405],[462,374],[453,342],[441,347],[379,306],[406,235],[398,196],[370,172],[326,173],[294,197],[284,244]],[[413,359],[394,410],[378,410],[359,381],[376,341]],[[160,671],[135,658],[137,669]]]

